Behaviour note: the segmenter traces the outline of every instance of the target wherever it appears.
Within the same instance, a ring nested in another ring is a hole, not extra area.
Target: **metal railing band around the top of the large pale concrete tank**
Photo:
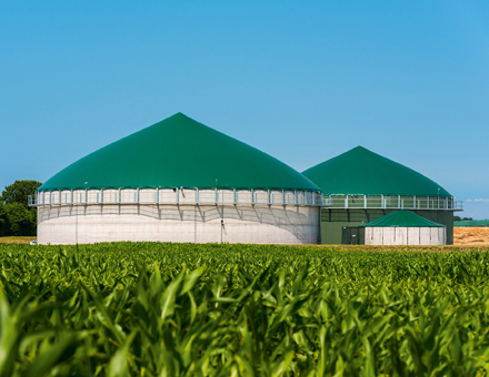
[[[320,206],[321,195],[309,191],[220,188],[59,190],[29,195],[30,206],[89,204],[301,205]]]

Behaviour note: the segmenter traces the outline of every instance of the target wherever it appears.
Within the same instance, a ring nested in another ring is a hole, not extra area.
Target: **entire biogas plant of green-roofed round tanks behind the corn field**
[[[300,174],[182,113],[69,165],[29,205],[40,244],[445,244],[461,210],[433,181],[361,146]]]

